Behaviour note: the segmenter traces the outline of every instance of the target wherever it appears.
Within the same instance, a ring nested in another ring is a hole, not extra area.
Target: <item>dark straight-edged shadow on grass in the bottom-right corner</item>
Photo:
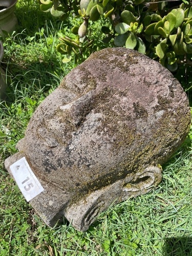
[[[191,256],[192,237],[173,237],[164,240],[163,256]]]

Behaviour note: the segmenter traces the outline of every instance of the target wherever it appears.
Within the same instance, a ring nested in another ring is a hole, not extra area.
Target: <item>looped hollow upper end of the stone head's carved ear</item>
[[[138,173],[137,177],[127,184],[124,184],[124,190],[127,193],[132,193],[133,197],[148,193],[153,187],[157,186],[161,181],[161,168],[150,166]]]

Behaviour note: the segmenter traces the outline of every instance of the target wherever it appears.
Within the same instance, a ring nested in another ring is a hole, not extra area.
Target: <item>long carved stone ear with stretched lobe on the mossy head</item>
[[[81,231],[87,230],[99,213],[111,204],[148,193],[161,181],[161,168],[149,166],[127,182],[117,181],[105,189],[96,190],[86,200],[82,199],[65,209],[65,217]],[[115,199],[115,200],[114,200]]]

